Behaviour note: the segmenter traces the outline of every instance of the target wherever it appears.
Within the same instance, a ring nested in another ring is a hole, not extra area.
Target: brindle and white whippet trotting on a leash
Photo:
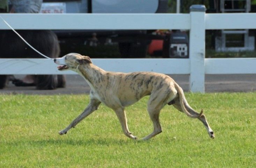
[[[181,87],[167,75],[155,72],[108,72],[95,66],[88,56],[77,53],[54,59],[54,62],[60,65],[58,66],[60,71],[73,70],[80,74],[91,88],[89,105],[67,128],[59,131],[60,135],[66,134],[68,130],[97,110],[102,102],[115,111],[124,134],[129,138],[137,139],[128,129],[124,108],[150,95],[147,111],[154,129],[151,134],[142,138],[143,140],[162,132],[159,114],[166,104],[173,105],[189,117],[198,118],[205,125],[210,137],[214,138],[203,110],[200,114],[193,110],[186,101]]]

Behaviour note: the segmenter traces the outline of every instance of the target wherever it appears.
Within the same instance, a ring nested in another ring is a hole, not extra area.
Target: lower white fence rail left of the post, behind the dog
[[[190,74],[189,59],[92,59],[92,61],[106,71]],[[181,63],[184,65],[183,68],[180,67]],[[0,59],[1,74],[76,74],[70,70],[59,71],[57,66],[50,59]]]

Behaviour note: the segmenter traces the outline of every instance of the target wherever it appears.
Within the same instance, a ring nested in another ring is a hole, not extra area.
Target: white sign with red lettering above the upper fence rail
[[[66,3],[62,2],[46,2],[42,3],[39,13],[66,13]]]

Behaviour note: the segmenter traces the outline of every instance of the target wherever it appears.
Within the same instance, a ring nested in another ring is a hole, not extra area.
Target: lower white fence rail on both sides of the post
[[[92,61],[106,71],[190,74],[189,59],[92,59]],[[57,66],[49,59],[0,59],[0,74],[76,74],[73,71],[59,71]],[[206,58],[205,74],[256,74],[255,66],[254,58]]]

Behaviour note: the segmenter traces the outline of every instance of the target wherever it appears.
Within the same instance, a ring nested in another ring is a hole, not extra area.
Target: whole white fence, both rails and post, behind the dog
[[[92,59],[108,71],[154,71],[190,74],[190,90],[204,92],[205,74],[256,74],[256,58],[205,59],[205,30],[256,29],[256,14],[205,14],[193,5],[190,14],[1,14],[14,28],[36,29],[187,29],[189,59]],[[9,29],[0,20],[0,30]],[[74,51],[75,52],[75,51]],[[86,54],[86,53],[81,53]],[[49,59],[0,59],[0,74],[75,74],[60,72]]]

